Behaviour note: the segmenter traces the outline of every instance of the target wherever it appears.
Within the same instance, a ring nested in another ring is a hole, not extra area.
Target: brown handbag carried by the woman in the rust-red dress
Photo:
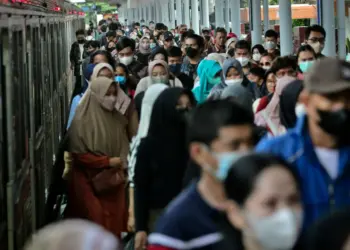
[[[92,187],[97,195],[111,191],[125,183],[122,168],[108,168],[91,178]]]

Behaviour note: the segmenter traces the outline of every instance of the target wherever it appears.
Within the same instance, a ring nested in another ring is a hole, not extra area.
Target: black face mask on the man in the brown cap
[[[320,116],[319,126],[328,134],[338,138],[339,142],[350,144],[350,110],[317,110]]]

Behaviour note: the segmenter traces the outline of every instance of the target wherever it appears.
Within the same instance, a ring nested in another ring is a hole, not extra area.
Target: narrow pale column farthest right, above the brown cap
[[[345,1],[337,0],[337,21],[338,21],[338,57],[346,57],[346,34],[345,34]]]

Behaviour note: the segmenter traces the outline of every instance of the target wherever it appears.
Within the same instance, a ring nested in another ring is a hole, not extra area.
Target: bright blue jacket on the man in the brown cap
[[[339,174],[331,179],[314,151],[306,116],[300,117],[296,127],[283,136],[263,139],[256,151],[284,158],[300,175],[304,226],[350,205],[350,147],[339,149]]]

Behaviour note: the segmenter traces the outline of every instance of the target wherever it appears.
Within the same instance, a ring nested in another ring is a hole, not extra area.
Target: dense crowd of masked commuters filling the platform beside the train
[[[71,48],[46,215],[66,194],[65,220],[26,250],[350,249],[350,63],[322,54],[323,27],[287,56],[274,30],[98,33]]]

